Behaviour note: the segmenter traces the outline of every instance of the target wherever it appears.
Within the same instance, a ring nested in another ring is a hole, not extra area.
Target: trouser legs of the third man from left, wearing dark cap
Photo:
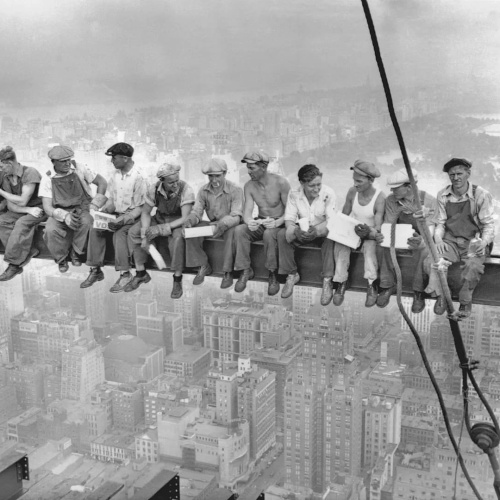
[[[136,221],[125,224],[113,233],[113,247],[115,250],[115,269],[128,271],[130,269],[130,254],[128,251],[128,232]],[[106,232],[92,228],[89,233],[89,247],[87,251],[87,266],[102,267],[106,253]]]

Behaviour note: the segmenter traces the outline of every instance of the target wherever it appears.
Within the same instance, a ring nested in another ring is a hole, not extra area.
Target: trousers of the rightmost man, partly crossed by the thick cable
[[[464,238],[460,238],[457,242],[453,237],[443,238],[443,242],[448,245],[448,249],[439,254],[439,257],[443,257],[449,262],[463,262],[464,267],[462,269],[462,287],[458,294],[458,300],[461,304],[472,302],[472,294],[476,286],[481,279],[481,275],[484,273],[484,261],[489,255],[489,248],[485,248],[484,255],[467,257],[469,250],[469,241],[463,241]],[[433,269],[432,257],[428,255],[425,265],[430,269],[429,285],[426,288],[426,292],[429,294],[442,295],[441,283],[439,281],[438,271]]]

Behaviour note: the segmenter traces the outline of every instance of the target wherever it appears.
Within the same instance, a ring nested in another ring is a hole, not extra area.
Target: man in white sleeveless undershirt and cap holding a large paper
[[[373,182],[380,177],[379,169],[371,162],[356,160],[351,167],[354,187],[347,192],[342,213],[357,219],[360,224],[355,228],[356,234],[363,240],[362,251],[364,258],[364,278],[368,280],[366,289],[366,307],[372,307],[377,301],[378,278],[377,243],[376,234],[380,231],[384,218],[385,195],[374,187]],[[333,281],[337,282],[337,289],[333,295],[333,303],[339,306],[344,301],[349,276],[351,249],[336,242],[334,248],[335,275]]]

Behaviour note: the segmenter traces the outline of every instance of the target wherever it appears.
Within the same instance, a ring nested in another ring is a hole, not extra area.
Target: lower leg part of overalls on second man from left
[[[64,222],[59,222],[54,217],[49,217],[43,239],[58,264],[66,260],[71,247],[79,255],[85,253],[93,223],[94,219],[87,211],[81,212],[80,226],[76,230],[70,229]]]

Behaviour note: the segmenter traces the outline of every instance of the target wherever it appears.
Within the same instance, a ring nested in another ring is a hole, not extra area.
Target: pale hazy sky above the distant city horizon
[[[371,0],[391,81],[500,77],[497,0]],[[379,83],[359,0],[0,0],[0,100]]]

